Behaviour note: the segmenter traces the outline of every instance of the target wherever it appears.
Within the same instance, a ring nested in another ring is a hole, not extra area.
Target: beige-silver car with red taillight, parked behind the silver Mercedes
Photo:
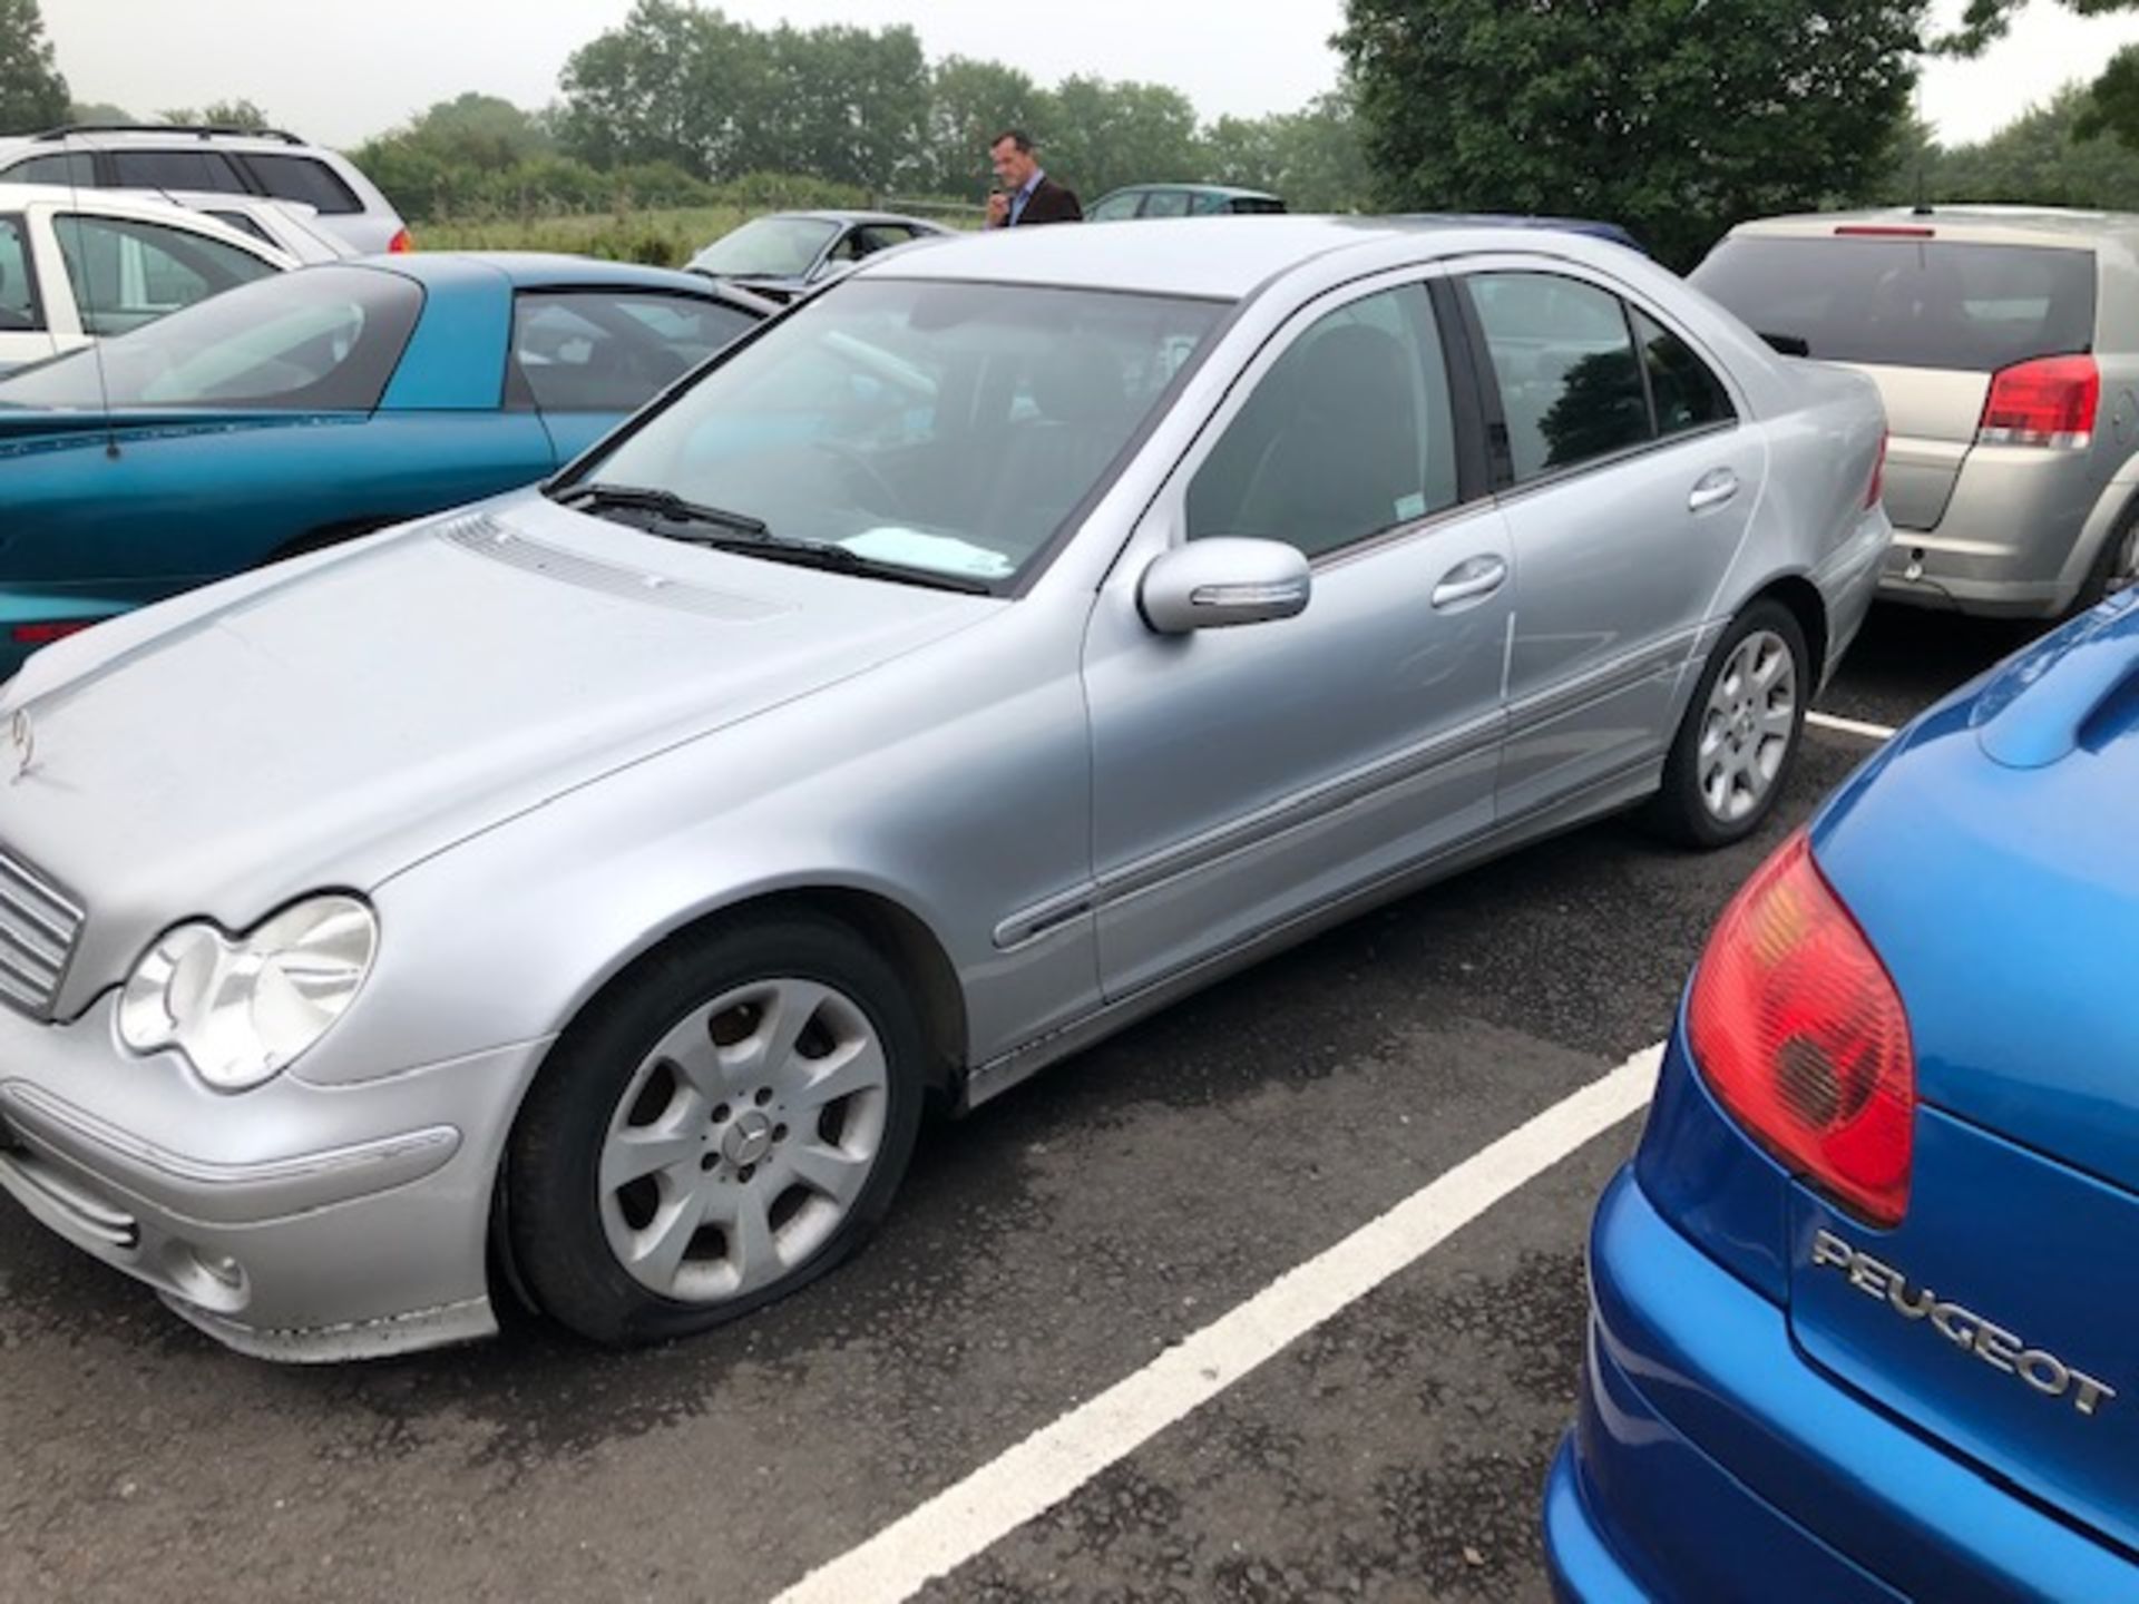
[[[2139,216],[1919,207],[1745,222],[1692,282],[1887,400],[1880,595],[2058,616],[2139,575]]]

